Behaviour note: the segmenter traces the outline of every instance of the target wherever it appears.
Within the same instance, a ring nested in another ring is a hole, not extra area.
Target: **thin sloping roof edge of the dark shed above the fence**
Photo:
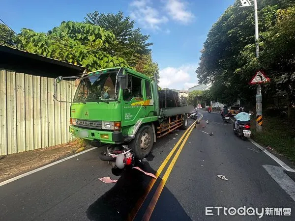
[[[81,71],[84,71],[86,69],[85,67],[77,65],[77,64],[69,63],[69,62],[58,60],[58,59],[51,58],[51,57],[46,57],[43,55],[38,55],[35,53],[30,53],[30,52],[27,52],[27,51],[24,51],[24,50],[15,48],[15,47],[2,45],[2,44],[0,44],[0,52],[6,52],[6,53],[11,53],[11,54],[27,56],[27,57],[37,59],[37,60],[42,60],[45,62],[54,63],[57,65],[66,66],[66,67],[73,68],[73,69],[79,69]]]

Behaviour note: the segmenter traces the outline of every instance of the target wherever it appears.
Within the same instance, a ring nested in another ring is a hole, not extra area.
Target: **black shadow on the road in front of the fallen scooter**
[[[138,162],[136,166],[155,174],[148,162]],[[92,221],[126,220],[138,199],[145,193],[150,179],[149,176],[137,169],[124,169],[115,186],[89,206],[86,212],[88,219]],[[175,213],[169,214],[169,216],[173,217],[173,220],[176,218],[190,220],[175,196],[166,187],[163,191],[165,191],[165,196],[169,197],[167,207],[172,205],[172,213]]]

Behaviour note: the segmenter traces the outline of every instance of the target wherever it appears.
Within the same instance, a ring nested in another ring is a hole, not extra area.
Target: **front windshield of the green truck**
[[[108,72],[85,76],[78,85],[73,102],[115,101],[116,75],[117,72]]]

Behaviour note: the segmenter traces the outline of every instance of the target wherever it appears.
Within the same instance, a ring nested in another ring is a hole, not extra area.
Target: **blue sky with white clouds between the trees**
[[[161,87],[188,89],[198,84],[196,69],[207,33],[235,0],[1,0],[0,19],[21,28],[47,32],[62,21],[81,22],[89,12],[122,11],[149,34]]]

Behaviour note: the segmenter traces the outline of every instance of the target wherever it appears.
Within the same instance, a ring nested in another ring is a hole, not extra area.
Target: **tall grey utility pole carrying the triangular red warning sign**
[[[242,7],[253,6],[254,3],[254,17],[255,17],[255,45],[256,45],[256,57],[259,58],[259,29],[258,29],[258,8],[257,0],[240,0]],[[256,118],[262,116],[262,94],[261,86],[257,84],[256,88]],[[262,132],[262,125],[256,121],[256,131]]]

